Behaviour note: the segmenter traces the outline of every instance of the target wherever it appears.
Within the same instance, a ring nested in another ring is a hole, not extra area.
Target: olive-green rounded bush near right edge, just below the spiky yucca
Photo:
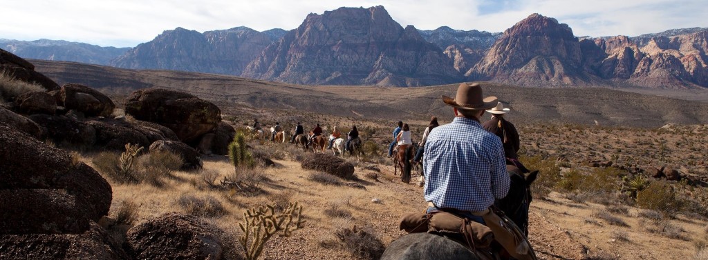
[[[646,189],[636,194],[636,205],[664,214],[673,215],[681,208],[681,201],[676,191],[668,182],[658,181],[649,184]]]

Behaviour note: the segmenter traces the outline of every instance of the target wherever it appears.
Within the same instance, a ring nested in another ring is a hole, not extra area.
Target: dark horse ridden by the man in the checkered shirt
[[[510,214],[512,221],[517,223],[524,234],[527,234],[528,209],[531,202],[530,184],[536,179],[538,171],[525,176],[507,167],[511,184],[509,193],[503,199],[498,199],[498,205],[506,214]],[[518,218],[517,218],[518,217]],[[515,219],[516,218],[516,219]],[[382,260],[418,259],[418,260],[457,260],[480,259],[479,255],[468,249],[464,242],[450,240],[432,233],[411,233],[394,240],[381,256]]]

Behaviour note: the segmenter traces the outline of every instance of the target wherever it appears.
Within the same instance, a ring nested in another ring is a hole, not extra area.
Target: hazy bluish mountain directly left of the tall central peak
[[[277,32],[272,34],[277,37]],[[142,43],[110,62],[127,69],[170,69],[239,75],[273,39],[256,30],[237,27],[199,33],[176,28]]]

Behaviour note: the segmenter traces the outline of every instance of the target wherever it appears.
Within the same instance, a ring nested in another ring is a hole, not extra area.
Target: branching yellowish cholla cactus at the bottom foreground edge
[[[239,223],[239,228],[244,235],[239,237],[239,244],[246,252],[247,260],[258,259],[263,252],[263,245],[275,233],[282,231],[281,237],[290,237],[292,232],[303,228],[302,206],[297,202],[282,213],[275,214],[275,204],[251,208],[244,213],[244,223]]]

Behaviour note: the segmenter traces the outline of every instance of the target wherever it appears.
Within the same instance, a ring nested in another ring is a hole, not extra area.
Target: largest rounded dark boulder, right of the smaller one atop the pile
[[[200,136],[221,122],[221,110],[211,102],[162,88],[135,90],[125,102],[125,114],[167,126],[181,141],[190,144],[197,143]]]

